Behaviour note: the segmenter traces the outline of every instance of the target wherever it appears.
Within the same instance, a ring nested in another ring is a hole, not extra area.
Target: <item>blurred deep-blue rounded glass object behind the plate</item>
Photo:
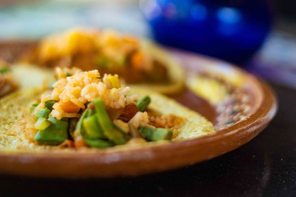
[[[242,63],[271,28],[265,0],[143,0],[157,42]]]

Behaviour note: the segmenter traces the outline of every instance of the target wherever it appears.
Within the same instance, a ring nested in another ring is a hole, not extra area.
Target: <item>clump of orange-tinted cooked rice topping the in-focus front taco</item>
[[[44,108],[46,100],[59,101],[53,105],[51,115],[57,119],[63,117],[80,117],[78,113],[66,113],[61,108],[61,102],[71,101],[80,108],[85,108],[86,102],[91,102],[95,98],[100,97],[106,108],[124,108],[126,105],[126,98],[131,89],[130,87],[124,88],[110,88],[107,80],[101,81],[100,73],[98,70],[92,70],[88,72],[79,71],[76,68],[68,69],[68,73],[74,73],[73,76],[66,77],[61,74],[65,70],[57,68],[57,77],[59,80],[54,83],[53,91],[49,95],[41,96],[41,103],[36,107],[34,113]],[[65,78],[66,77],[66,78]],[[107,75],[105,75],[107,77]],[[109,87],[109,88],[108,88]]]

